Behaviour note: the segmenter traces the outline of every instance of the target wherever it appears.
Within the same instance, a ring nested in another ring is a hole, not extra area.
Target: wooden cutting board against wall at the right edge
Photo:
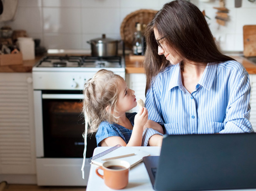
[[[244,56],[256,56],[256,25],[244,25]]]

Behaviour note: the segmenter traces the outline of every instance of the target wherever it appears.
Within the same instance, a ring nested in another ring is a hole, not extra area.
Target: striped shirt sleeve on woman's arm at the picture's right
[[[230,88],[230,99],[224,119],[224,130],[221,130],[220,133],[254,132],[249,122],[251,110],[249,74],[244,72],[242,76],[234,75],[227,88]]]

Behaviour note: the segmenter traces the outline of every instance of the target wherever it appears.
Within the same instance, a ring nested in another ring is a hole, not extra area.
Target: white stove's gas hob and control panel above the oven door
[[[125,79],[122,56],[46,56],[32,68],[34,90],[83,90],[89,78],[106,69]]]

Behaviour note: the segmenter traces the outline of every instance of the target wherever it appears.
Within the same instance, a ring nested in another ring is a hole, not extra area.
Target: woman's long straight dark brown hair
[[[174,49],[187,61],[207,64],[234,60],[222,54],[202,12],[187,0],[166,3],[147,25],[145,38],[147,50],[143,66],[147,76],[146,93],[157,74],[170,65],[163,55],[158,55],[154,29],[159,37],[165,37],[165,44]]]

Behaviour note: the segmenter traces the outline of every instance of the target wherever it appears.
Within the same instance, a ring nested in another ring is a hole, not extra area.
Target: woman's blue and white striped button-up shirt
[[[192,93],[176,64],[155,77],[145,105],[149,119],[163,124],[169,135],[254,132],[250,93],[249,74],[237,61],[207,64]]]

